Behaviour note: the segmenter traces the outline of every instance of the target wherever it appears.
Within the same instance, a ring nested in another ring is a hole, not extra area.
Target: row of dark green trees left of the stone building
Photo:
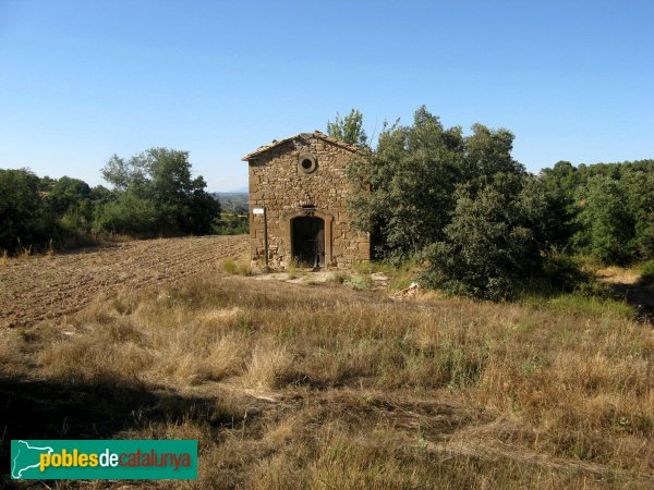
[[[112,188],[0,169],[0,253],[66,248],[107,234],[207,234],[220,218],[204,179],[192,176],[186,151],[112,156],[102,175]]]

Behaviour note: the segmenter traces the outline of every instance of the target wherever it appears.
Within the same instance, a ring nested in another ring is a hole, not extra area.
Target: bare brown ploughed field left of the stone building
[[[100,294],[218,271],[222,259],[246,252],[244,235],[204,236],[12,259],[0,268],[0,328],[31,326],[76,311]]]

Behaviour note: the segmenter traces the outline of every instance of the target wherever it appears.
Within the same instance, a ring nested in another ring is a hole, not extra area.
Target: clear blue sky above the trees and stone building
[[[229,191],[271,139],[421,105],[534,172],[654,158],[654,2],[0,0],[0,168],[95,185],[166,146]]]

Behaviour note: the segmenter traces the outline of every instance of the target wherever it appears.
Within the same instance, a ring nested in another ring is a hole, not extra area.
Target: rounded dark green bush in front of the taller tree
[[[528,175],[497,173],[474,189],[461,185],[444,238],[425,248],[428,282],[453,293],[501,299],[542,265],[545,196]]]

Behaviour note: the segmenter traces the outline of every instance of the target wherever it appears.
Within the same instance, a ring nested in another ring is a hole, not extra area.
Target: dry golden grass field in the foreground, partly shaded
[[[158,487],[654,486],[654,331],[629,308],[356,283],[213,274],[3,330],[2,467],[17,437],[177,438],[201,480]]]

